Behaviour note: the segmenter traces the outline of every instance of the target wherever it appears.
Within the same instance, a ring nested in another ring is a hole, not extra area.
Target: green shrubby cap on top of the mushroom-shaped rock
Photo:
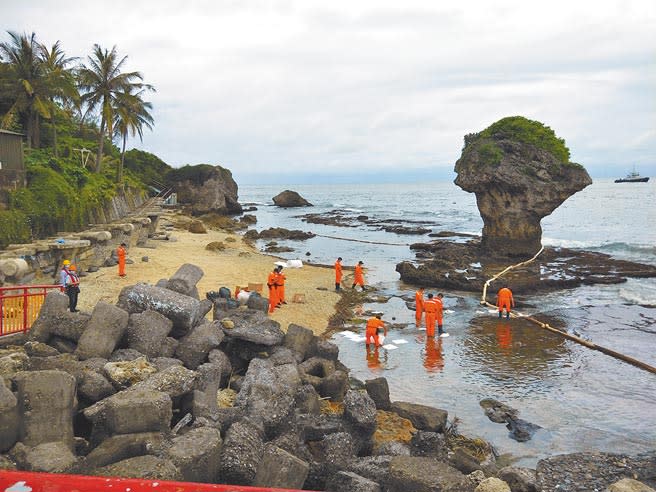
[[[565,140],[558,138],[548,126],[522,116],[502,118],[480,132],[478,138],[515,140],[530,144],[538,149],[550,152],[564,164],[569,163],[570,154],[567,145],[565,145]]]

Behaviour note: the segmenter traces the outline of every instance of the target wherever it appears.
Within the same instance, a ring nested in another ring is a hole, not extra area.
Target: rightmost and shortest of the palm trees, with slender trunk
[[[146,90],[155,89],[147,86],[136,93],[124,92],[117,95],[116,108],[114,112],[114,133],[123,140],[121,145],[121,161],[116,173],[116,181],[123,183],[123,165],[125,163],[125,144],[128,134],[133,137],[139,135],[139,140],[143,141],[144,126],[149,130],[153,129],[154,120],[149,110],[153,105],[144,101],[141,96]]]

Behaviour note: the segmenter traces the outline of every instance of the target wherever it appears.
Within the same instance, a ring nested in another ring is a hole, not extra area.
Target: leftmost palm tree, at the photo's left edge
[[[11,41],[0,43],[0,58],[7,63],[7,79],[3,89],[12,101],[0,123],[8,127],[15,118],[23,123],[28,147],[39,146],[39,115],[49,118],[47,86],[44,68],[39,59],[36,34],[18,34],[7,31]]]

